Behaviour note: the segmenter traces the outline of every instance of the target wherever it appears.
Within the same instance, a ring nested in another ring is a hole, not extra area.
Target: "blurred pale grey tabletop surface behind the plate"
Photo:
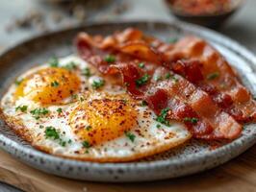
[[[102,0],[104,1],[104,0]],[[174,19],[168,12],[165,3],[161,0],[126,0],[126,1],[108,1],[106,8],[87,11],[84,23],[91,21],[107,20],[163,20],[170,21]],[[125,2],[128,9],[125,12],[115,14],[115,9],[120,3]],[[31,11],[39,11],[44,17],[46,29],[39,30],[37,27],[31,28],[13,28],[8,30],[16,19],[24,17]],[[239,41],[253,53],[256,53],[256,1],[245,1],[243,8],[239,10],[222,28],[217,31],[226,36]],[[54,22],[53,12],[62,14],[62,21]],[[85,13],[85,12],[84,12]],[[23,41],[32,36],[38,36],[48,31],[54,31],[62,28],[79,25],[79,22],[68,14],[63,13],[62,9],[52,7],[43,0],[1,0],[0,2],[0,52],[8,47]],[[1,192],[19,191],[13,187],[0,182]]]

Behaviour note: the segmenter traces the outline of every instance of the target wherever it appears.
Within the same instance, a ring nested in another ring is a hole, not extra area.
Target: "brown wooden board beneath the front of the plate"
[[[97,183],[42,173],[0,151],[0,180],[30,192],[246,192],[256,191],[256,145],[242,156],[207,172],[174,180]]]

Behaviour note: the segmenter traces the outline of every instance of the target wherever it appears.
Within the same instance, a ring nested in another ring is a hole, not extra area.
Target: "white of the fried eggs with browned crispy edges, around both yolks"
[[[42,116],[37,120],[29,111],[42,107],[40,104],[24,97],[14,100],[13,93],[16,88],[15,84],[11,85],[10,89],[1,100],[2,113],[7,124],[10,125],[15,132],[18,132],[26,140],[29,140],[32,145],[37,147],[39,150],[56,156],[64,156],[81,160],[99,162],[127,161],[144,156],[155,155],[178,146],[190,139],[191,133],[187,131],[183,124],[171,122],[170,127],[163,124],[159,126],[160,123],[155,120],[156,115],[154,112],[148,107],[141,107],[138,105],[135,108],[135,110],[138,111],[137,126],[130,130],[130,133],[135,135],[134,141],[129,139],[127,135],[123,134],[111,141],[90,146],[90,148],[85,149],[82,144],[83,140],[72,132],[72,129],[68,124],[70,112],[78,105],[82,105],[80,98],[83,98],[83,100],[87,99],[84,98],[85,95],[90,95],[90,99],[104,99],[110,95],[125,95],[125,89],[119,85],[105,81],[105,85],[100,89],[100,91],[93,90],[91,87],[93,81],[103,80],[104,78],[93,67],[91,67],[89,63],[76,56],[69,56],[60,59],[59,61],[60,66],[64,66],[70,61],[73,61],[77,64],[79,69],[84,69],[86,67],[90,68],[90,72],[92,74],[90,78],[82,75],[79,70],[76,71],[83,83],[80,92],[77,93],[76,101],[72,102],[70,98],[67,98],[65,99],[66,102],[64,105],[44,107],[50,111],[49,115]],[[23,79],[26,76],[35,73],[39,69],[46,67],[49,67],[49,63],[44,63],[38,67],[30,69],[18,77],[18,79]],[[126,94],[125,99],[127,99],[127,97],[129,96]],[[20,106],[27,106],[27,112],[15,109]],[[62,108],[63,111],[59,113],[57,111],[58,108]],[[54,127],[59,132],[62,141],[65,142],[65,145],[60,144],[60,139],[46,138],[46,127]],[[20,130],[22,130],[21,133]],[[30,139],[28,139],[27,136],[24,136],[24,132],[26,132],[26,135],[30,136]]]

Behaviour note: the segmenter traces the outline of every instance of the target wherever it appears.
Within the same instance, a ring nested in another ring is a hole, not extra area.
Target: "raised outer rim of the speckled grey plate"
[[[208,30],[203,27],[196,26],[196,25],[192,25],[192,24],[187,24],[187,23],[177,22],[177,21],[170,22],[170,23],[169,22],[161,22],[161,21],[153,21],[153,22],[152,21],[132,21],[132,22],[125,21],[125,22],[110,22],[110,23],[104,23],[104,24],[92,23],[92,24],[89,24],[89,25],[86,25],[83,27],[77,27],[77,28],[82,29],[84,27],[90,27],[90,26],[94,26],[94,25],[117,25],[117,24],[118,25],[125,24],[125,25],[130,25],[130,26],[134,26],[136,24],[144,24],[144,25],[148,25],[148,26],[155,25],[155,24],[164,24],[164,25],[178,26],[179,28],[181,28],[185,31],[191,32],[193,34],[198,34],[198,32],[200,31],[200,36],[211,39],[224,47],[228,47],[229,50],[236,52],[241,57],[243,57],[243,59],[252,63],[251,69],[254,73],[256,71],[256,57],[250,51],[248,51],[246,48],[244,48],[241,44],[239,44],[238,42],[235,42],[234,40],[230,39],[229,37],[219,35],[218,33],[214,32],[214,31],[211,31],[211,30]],[[66,30],[68,31],[68,30],[72,30],[72,29],[66,29]],[[43,36],[51,36],[52,34],[56,34],[56,33],[59,33],[59,31],[49,33],[49,34],[46,34]],[[7,55],[10,51],[15,49],[16,46],[20,46],[22,44],[28,43],[28,42],[36,39],[37,37],[38,36],[36,36],[30,40],[26,40],[22,43],[19,43],[18,45],[13,46],[12,48],[10,48],[6,52],[4,52],[2,54],[2,56]],[[0,56],[0,57],[2,57],[2,56]],[[218,166],[219,164],[222,164],[222,163],[228,161],[229,159],[231,159],[235,156],[239,156],[246,149],[248,149],[255,143],[256,143],[256,134],[251,134],[249,136],[243,136],[243,137],[227,144],[225,147],[218,148],[217,150],[211,151],[209,153],[204,153],[204,154],[198,153],[198,154],[194,154],[194,155],[188,156],[187,158],[182,158],[182,159],[171,159],[171,160],[165,159],[165,160],[157,160],[157,161],[151,161],[151,162],[96,163],[96,162],[85,162],[85,161],[78,161],[78,160],[73,160],[73,159],[66,159],[66,158],[62,158],[62,157],[58,157],[58,156],[47,155],[47,154],[44,154],[44,153],[36,151],[36,150],[31,150],[30,148],[26,148],[26,147],[18,144],[17,142],[13,141],[12,139],[8,138],[7,136],[0,133],[0,147],[2,149],[4,149],[5,151],[11,153],[13,156],[20,158],[21,160],[23,160],[21,158],[21,155],[26,154],[28,156],[37,156],[39,159],[47,160],[47,161],[51,162],[51,164],[56,164],[56,165],[61,164],[62,166],[82,167],[82,168],[87,168],[87,169],[90,168],[90,170],[96,171],[99,173],[104,170],[111,170],[114,173],[115,172],[118,173],[118,172],[120,172],[120,170],[127,170],[126,176],[124,176],[120,180],[111,180],[111,181],[161,180],[161,179],[167,179],[167,178],[180,177],[180,176],[184,176],[184,175],[190,175],[192,173],[196,173],[199,171],[213,168],[215,166]],[[19,152],[19,153],[16,153],[16,152]],[[227,153],[229,154],[228,156],[227,156]],[[215,158],[218,162],[216,162],[215,160],[211,160],[211,162],[209,162],[208,161],[209,158],[212,158],[212,159]],[[198,162],[202,163],[202,165],[201,165],[202,169],[200,169],[200,170],[198,170],[198,168],[196,168],[196,166],[193,166],[193,165],[196,165]],[[25,161],[25,163],[30,164],[44,172],[52,173],[51,170],[45,170],[41,167],[37,167],[37,165],[34,164],[35,162],[33,162],[33,161],[30,162],[28,160],[28,161]],[[177,174],[176,176],[174,176],[174,175],[169,176],[169,174],[161,173],[165,169],[169,170],[170,168],[174,168],[174,167],[181,168],[184,165],[187,166],[188,170],[186,172],[184,172],[183,174]],[[131,176],[134,175],[134,174],[132,174],[132,172],[134,172],[134,171],[137,171],[138,173],[143,173],[143,172],[146,173],[149,169],[150,169],[150,173],[156,172],[157,174],[152,177],[142,178],[141,180],[134,180],[134,179],[131,179],[128,177],[129,174]],[[69,178],[68,176],[64,175],[63,173],[54,173],[54,174]],[[85,179],[80,179],[80,178],[75,178],[75,179],[85,180]],[[110,181],[106,177],[103,179],[96,179],[96,178],[92,177],[91,179],[87,179],[87,180]]]

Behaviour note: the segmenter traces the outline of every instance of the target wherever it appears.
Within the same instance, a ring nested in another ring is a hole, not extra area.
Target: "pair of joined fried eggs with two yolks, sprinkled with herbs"
[[[143,101],[76,56],[22,74],[2,98],[1,110],[13,131],[37,149],[80,160],[136,160],[191,138],[183,124],[157,122]]]

